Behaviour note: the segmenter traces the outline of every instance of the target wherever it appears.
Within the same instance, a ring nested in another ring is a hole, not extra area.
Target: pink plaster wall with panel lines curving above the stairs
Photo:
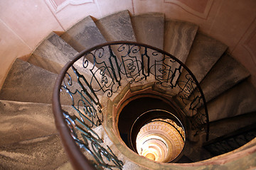
[[[85,16],[128,9],[132,15],[165,13],[198,24],[224,42],[252,74],[256,86],[255,0],[9,0],[0,1],[0,87],[16,57],[28,55],[51,31],[63,32]]]

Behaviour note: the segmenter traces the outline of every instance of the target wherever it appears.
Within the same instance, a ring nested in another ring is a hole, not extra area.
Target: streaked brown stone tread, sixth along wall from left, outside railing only
[[[185,63],[196,36],[198,26],[183,21],[165,21],[164,51]]]

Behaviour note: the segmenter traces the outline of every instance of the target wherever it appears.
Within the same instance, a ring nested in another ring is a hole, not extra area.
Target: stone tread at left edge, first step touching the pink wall
[[[16,60],[4,81],[0,99],[50,103],[56,74]]]

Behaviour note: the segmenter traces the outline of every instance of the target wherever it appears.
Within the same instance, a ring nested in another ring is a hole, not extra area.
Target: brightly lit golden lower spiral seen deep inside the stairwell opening
[[[144,125],[136,139],[139,155],[156,162],[171,162],[181,153],[183,131],[172,120],[156,120]]]

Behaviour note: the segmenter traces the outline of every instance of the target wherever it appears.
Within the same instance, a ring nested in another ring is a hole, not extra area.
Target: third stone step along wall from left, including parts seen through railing
[[[92,20],[91,16],[87,16],[86,18],[82,19],[82,21],[76,23],[75,26],[69,28],[65,33],[63,33],[63,35],[61,35],[61,38],[63,38],[65,42],[68,42],[78,52],[88,50],[90,47],[107,42],[100,33],[100,30],[95,25],[95,22]],[[96,70],[100,67],[102,69],[105,66],[109,68],[112,66],[109,60],[110,52],[107,47],[102,47],[100,50],[95,52],[94,55],[95,58],[92,55],[85,56],[90,62],[87,69],[82,68],[82,61],[76,62],[77,67],[80,67],[80,72],[86,71],[87,77],[92,77],[92,73],[89,69],[93,68],[92,72],[96,72]],[[98,65],[95,64],[95,66],[93,66],[92,63],[95,63],[95,61]],[[113,67],[115,67],[115,70],[117,70],[117,66],[115,64],[113,64]],[[111,70],[110,72],[105,71],[105,74],[108,76],[107,79],[109,80],[111,79],[110,77],[113,77]],[[100,75],[96,75],[96,77],[99,76]],[[88,81],[90,81],[90,79],[88,79]]]

